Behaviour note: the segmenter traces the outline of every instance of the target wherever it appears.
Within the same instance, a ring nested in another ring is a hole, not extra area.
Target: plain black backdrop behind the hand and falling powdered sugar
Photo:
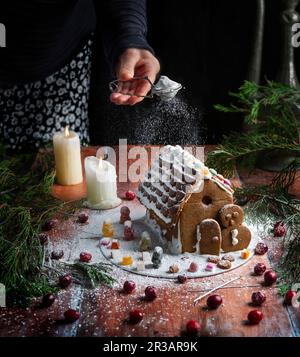
[[[276,79],[281,63],[280,11],[284,1],[266,0],[262,81]],[[300,10],[300,9],[298,9]],[[146,99],[134,107],[109,103],[109,70],[96,36],[90,105],[93,143],[217,143],[242,118],[224,115],[213,105],[229,102],[248,77],[256,19],[255,0],[148,0],[148,40],[162,74],[185,89],[169,103]],[[300,75],[300,49],[295,50]]]

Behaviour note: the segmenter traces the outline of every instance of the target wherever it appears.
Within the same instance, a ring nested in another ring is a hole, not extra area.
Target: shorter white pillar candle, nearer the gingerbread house
[[[88,156],[84,161],[87,206],[93,209],[108,209],[119,206],[117,196],[116,168],[108,161]]]

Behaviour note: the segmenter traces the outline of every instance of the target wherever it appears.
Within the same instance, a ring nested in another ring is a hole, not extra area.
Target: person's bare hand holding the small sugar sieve
[[[147,76],[154,83],[159,71],[160,64],[151,52],[137,48],[127,49],[119,58],[116,74],[119,81],[129,81],[122,83],[118,91],[131,95],[112,93],[110,100],[117,105],[134,105],[141,102],[144,98],[139,96],[147,95],[151,85],[143,79],[132,82],[130,79]]]

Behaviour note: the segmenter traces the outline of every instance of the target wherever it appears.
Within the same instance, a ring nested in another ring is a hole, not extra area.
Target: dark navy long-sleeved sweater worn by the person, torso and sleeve
[[[103,27],[113,68],[129,47],[152,52],[145,39],[146,0],[1,0],[0,86],[32,82],[63,67],[96,28]]]

